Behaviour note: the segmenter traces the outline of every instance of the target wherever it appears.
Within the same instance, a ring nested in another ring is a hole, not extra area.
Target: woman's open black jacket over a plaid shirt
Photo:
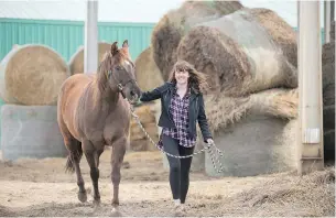
[[[141,101],[151,101],[161,98],[161,116],[159,127],[175,128],[173,118],[169,112],[174,88],[175,84],[165,83],[163,86],[160,86],[151,91],[142,92],[141,95]],[[196,137],[196,121],[198,120],[204,141],[206,142],[207,139],[213,139],[205,115],[203,95],[200,92],[192,91],[189,98],[188,118],[188,133],[192,137]]]

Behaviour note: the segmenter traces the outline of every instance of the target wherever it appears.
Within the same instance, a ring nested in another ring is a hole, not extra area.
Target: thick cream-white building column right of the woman
[[[323,105],[319,1],[299,2],[299,135],[297,173],[322,170]]]

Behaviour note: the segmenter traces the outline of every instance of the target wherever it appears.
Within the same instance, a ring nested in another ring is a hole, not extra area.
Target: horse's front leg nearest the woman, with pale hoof
[[[113,185],[112,212],[119,212],[119,184],[121,179],[120,167],[126,153],[128,140],[126,137],[112,142],[111,153],[111,181]]]

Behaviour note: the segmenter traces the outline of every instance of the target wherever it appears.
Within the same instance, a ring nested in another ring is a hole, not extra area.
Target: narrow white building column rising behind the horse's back
[[[93,74],[98,68],[98,1],[87,1],[84,42],[84,73]]]

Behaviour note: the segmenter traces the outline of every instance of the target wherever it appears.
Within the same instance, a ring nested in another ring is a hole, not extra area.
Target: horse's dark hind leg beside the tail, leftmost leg
[[[79,141],[77,141],[76,139],[72,138],[69,140],[69,142],[67,142],[67,148],[69,150],[69,156],[67,160],[67,164],[66,164],[66,168],[67,171],[71,172],[76,172],[76,176],[77,176],[77,185],[79,188],[78,192],[78,199],[82,203],[85,203],[87,200],[87,194],[86,194],[86,189],[85,189],[85,183],[82,176],[82,172],[80,172],[80,167],[79,167],[79,162],[80,159],[83,156],[83,150],[82,150],[82,144]]]

